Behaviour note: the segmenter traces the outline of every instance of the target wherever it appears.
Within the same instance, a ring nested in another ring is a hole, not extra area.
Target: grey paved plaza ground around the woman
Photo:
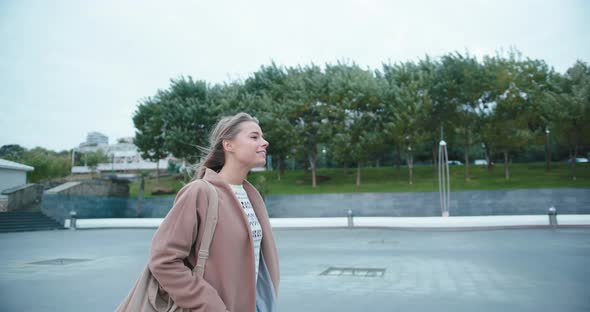
[[[153,233],[0,234],[0,310],[112,311],[145,265]],[[590,311],[590,229],[275,235],[280,311]],[[56,258],[89,261],[30,264]],[[320,275],[329,267],[384,274]]]

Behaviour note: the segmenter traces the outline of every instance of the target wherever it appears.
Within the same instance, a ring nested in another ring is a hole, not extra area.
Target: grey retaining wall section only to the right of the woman
[[[451,216],[590,214],[590,189],[531,189],[451,192]],[[437,192],[350,193],[269,196],[271,217],[440,216]]]

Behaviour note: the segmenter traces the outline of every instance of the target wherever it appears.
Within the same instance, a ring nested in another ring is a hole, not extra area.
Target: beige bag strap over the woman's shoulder
[[[203,181],[209,188],[207,192],[209,207],[205,218],[205,230],[203,231],[203,237],[201,238],[201,247],[199,248],[197,264],[193,268],[193,273],[197,273],[199,277],[203,277],[203,274],[205,273],[205,262],[207,262],[207,259],[209,258],[209,247],[211,247],[211,241],[213,240],[213,234],[215,233],[215,226],[217,226],[219,213],[217,191],[211,183],[205,180],[201,181]]]

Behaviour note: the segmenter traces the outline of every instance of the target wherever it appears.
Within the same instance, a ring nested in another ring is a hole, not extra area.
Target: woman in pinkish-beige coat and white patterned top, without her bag
[[[211,134],[197,177],[217,190],[219,217],[203,278],[183,262],[196,263],[208,205],[204,184],[193,181],[178,192],[154,235],[149,268],[179,307],[276,311],[278,254],[262,197],[245,180],[250,169],[266,163],[268,142],[262,135],[258,121],[246,113],[221,119]]]

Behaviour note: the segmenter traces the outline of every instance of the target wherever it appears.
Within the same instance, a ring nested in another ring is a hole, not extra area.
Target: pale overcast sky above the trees
[[[589,17],[585,0],[0,0],[0,146],[115,142],[171,78],[234,81],[273,60],[377,69],[515,47],[563,73],[590,62]]]

